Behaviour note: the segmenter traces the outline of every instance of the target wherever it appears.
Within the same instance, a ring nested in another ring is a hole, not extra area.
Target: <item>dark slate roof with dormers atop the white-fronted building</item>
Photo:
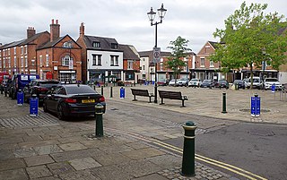
[[[111,44],[118,44],[116,39],[95,36],[83,36],[83,41],[87,49],[120,51],[118,50],[118,48],[111,48]],[[100,42],[100,47],[92,47],[92,42]]]

